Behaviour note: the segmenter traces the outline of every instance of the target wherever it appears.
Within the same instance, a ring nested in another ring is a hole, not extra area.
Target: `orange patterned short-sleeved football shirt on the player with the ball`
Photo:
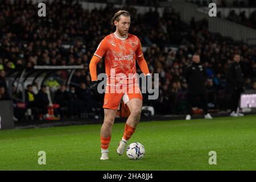
[[[118,82],[120,84],[125,78],[133,80],[132,84],[137,85],[136,59],[143,56],[137,36],[128,33],[126,38],[118,38],[115,33],[110,34],[101,41],[94,55],[100,58],[105,56],[108,85],[115,86]],[[129,73],[133,74],[132,78]],[[128,84],[129,81],[126,82]]]

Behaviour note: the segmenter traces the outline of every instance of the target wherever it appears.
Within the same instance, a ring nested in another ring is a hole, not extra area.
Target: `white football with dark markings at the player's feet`
[[[138,160],[142,159],[145,154],[144,146],[139,142],[129,144],[126,148],[126,155],[129,159]]]

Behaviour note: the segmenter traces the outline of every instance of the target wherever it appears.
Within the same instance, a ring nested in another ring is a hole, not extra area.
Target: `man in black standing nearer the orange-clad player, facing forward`
[[[203,110],[205,114],[204,118],[212,119],[212,116],[208,113],[205,69],[203,65],[200,64],[199,55],[193,55],[192,61],[192,64],[189,65],[184,72],[184,76],[188,84],[188,114],[186,119],[191,119],[192,106],[195,104],[197,98],[200,98],[203,103]]]

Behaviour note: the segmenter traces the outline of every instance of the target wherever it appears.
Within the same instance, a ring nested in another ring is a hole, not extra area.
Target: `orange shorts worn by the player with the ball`
[[[127,92],[125,93],[124,92],[122,93],[106,92],[104,97],[103,108],[119,110],[122,99],[123,99],[123,102],[125,103],[125,106],[126,106],[126,103],[132,100],[133,98],[139,98],[140,100],[142,100],[141,90],[137,86],[135,86],[134,89],[137,89],[137,92],[129,92],[129,90],[127,90]],[[108,86],[106,87],[106,90],[108,90]]]

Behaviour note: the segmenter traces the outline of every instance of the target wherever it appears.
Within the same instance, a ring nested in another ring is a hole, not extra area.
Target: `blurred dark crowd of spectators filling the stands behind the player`
[[[0,100],[8,97],[2,94],[7,93],[8,89],[6,73],[24,68],[30,70],[34,65],[84,65],[85,69],[75,72],[70,86],[66,88],[64,82],[60,82],[59,89],[51,94],[53,104],[60,105],[55,109],[58,115],[62,117],[64,111],[68,117],[80,117],[82,113],[101,106],[100,98],[97,97],[95,101],[96,96],[88,89],[91,82],[88,65],[100,41],[114,31],[110,19],[117,9],[108,5],[104,9],[89,11],[72,1],[53,1],[47,3],[47,7],[47,16],[40,18],[37,15],[38,7],[29,1],[2,1]],[[150,72],[160,73],[159,99],[145,101],[145,104],[155,106],[156,113],[181,113],[176,104],[183,101],[180,98],[185,98],[183,93],[187,90],[187,83],[183,72],[191,64],[194,53],[201,56],[207,70],[207,88],[210,92],[216,93],[225,88],[225,74],[234,52],[239,52],[242,57],[246,89],[256,89],[256,47],[209,32],[207,20],[196,22],[192,18],[191,23],[186,24],[174,9],[165,9],[163,16],[154,9],[146,14],[137,13],[133,7],[124,9],[131,14],[130,33],[137,35],[142,46],[146,47],[144,57]],[[69,46],[64,47],[64,44]],[[172,47],[177,47],[177,51]],[[97,73],[105,72],[104,61],[98,64],[97,69]],[[67,80],[64,72],[59,71],[56,76]],[[39,98],[46,98],[46,95],[34,93],[30,87],[26,92],[34,95],[31,98],[38,103],[32,106],[40,107],[42,101]],[[43,88],[38,89],[44,93]],[[75,96],[72,95],[74,93]],[[46,105],[48,102],[45,102]],[[214,96],[212,102],[217,104]],[[178,104],[180,107],[183,105],[181,102]],[[46,113],[46,107],[41,112]]]

